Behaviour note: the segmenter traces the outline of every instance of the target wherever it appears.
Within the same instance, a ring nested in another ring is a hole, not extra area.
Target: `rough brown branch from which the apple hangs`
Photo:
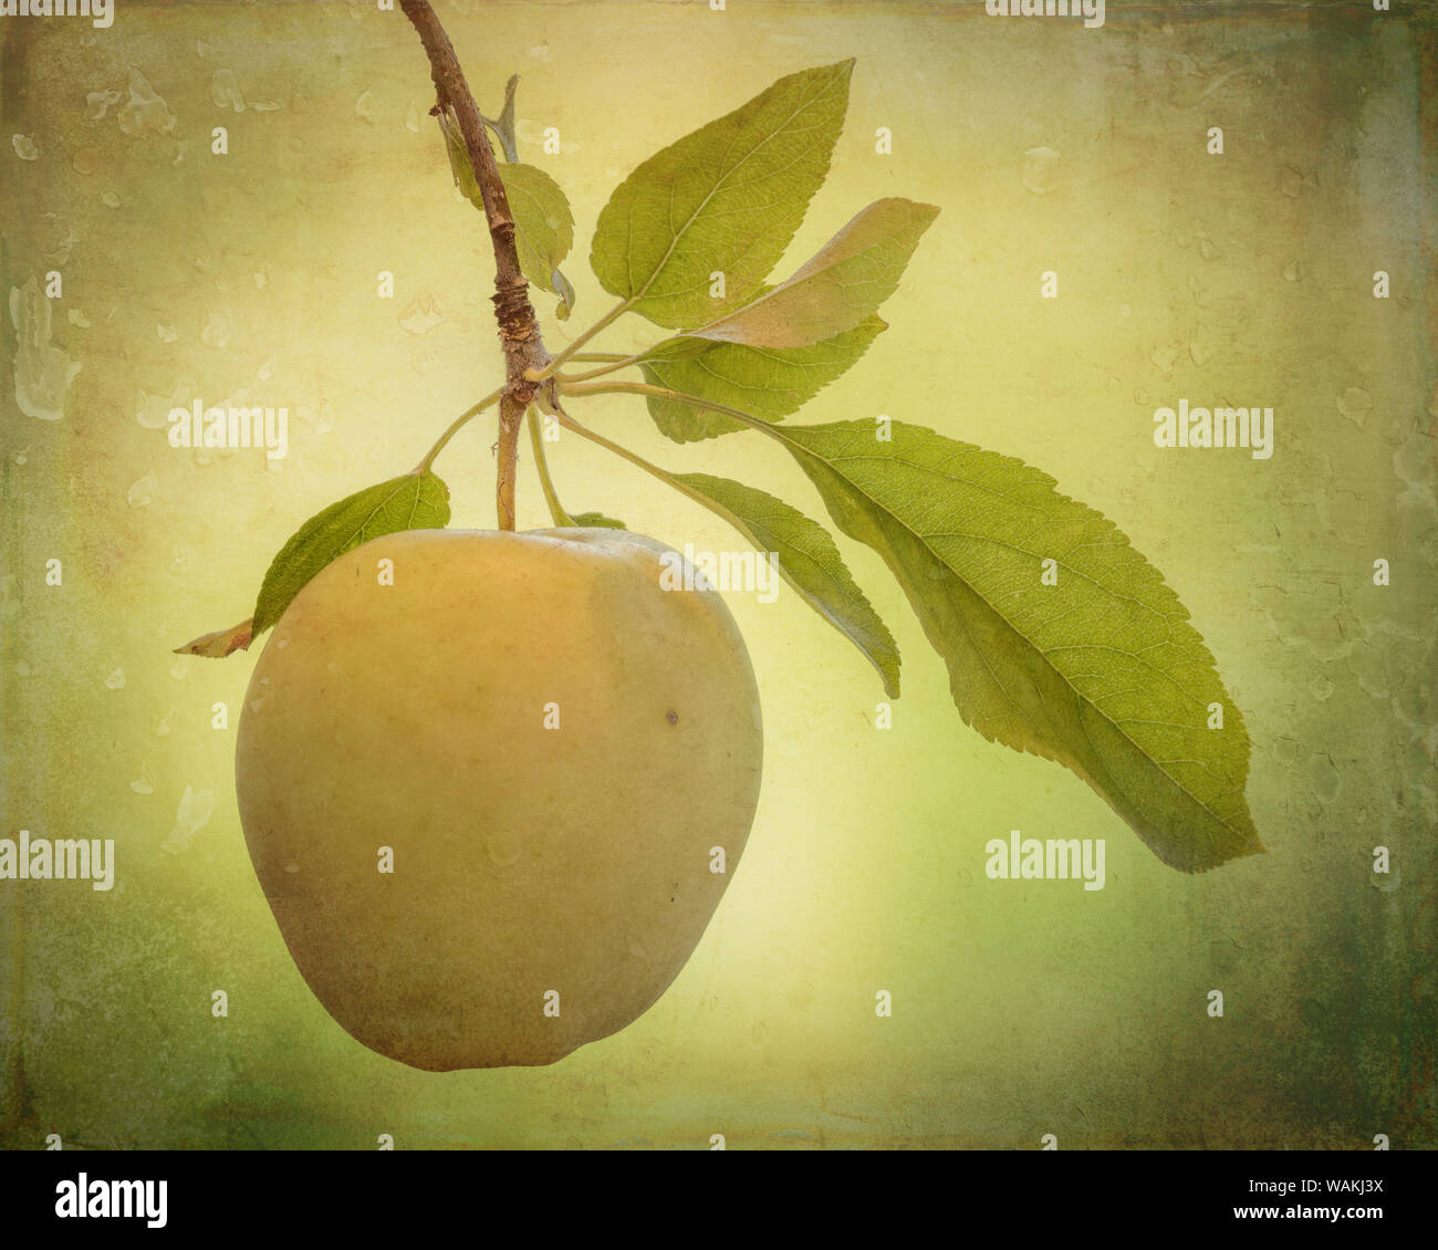
[[[539,321],[529,304],[529,283],[519,269],[519,249],[515,245],[515,219],[509,210],[509,196],[499,177],[495,150],[485,134],[479,106],[464,81],[454,46],[444,33],[439,17],[427,0],[400,0],[430,59],[436,105],[431,112],[447,111],[459,122],[475,180],[485,201],[489,239],[495,249],[495,319],[499,322],[499,344],[505,351],[505,396],[499,401],[499,449],[495,472],[495,509],[500,529],[515,528],[515,476],[519,463],[519,429],[525,410],[542,387],[554,390],[554,383],[532,383],[526,371],[542,371],[549,364]]]

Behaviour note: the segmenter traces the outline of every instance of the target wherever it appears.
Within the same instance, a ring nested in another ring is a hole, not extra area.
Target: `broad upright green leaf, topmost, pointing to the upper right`
[[[604,289],[680,329],[751,299],[828,174],[853,68],[781,78],[634,170],[594,232],[590,263]],[[715,272],[723,301],[709,295]]]

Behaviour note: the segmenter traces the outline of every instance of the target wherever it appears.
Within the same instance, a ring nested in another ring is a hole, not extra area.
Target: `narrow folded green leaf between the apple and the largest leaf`
[[[761,552],[772,552],[779,575],[879,670],[884,693],[899,698],[899,644],[850,575],[834,539],[782,499],[709,473],[664,475],[723,516]]]

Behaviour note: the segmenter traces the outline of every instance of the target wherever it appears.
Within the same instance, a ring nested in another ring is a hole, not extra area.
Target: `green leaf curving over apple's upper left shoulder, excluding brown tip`
[[[429,470],[357,491],[309,518],[275,557],[255,604],[253,633],[267,630],[326,564],[347,551],[401,529],[449,525],[449,486]]]

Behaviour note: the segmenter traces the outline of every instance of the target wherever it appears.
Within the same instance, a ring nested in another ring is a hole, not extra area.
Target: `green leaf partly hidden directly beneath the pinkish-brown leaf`
[[[887,327],[880,318],[869,316],[834,338],[785,350],[670,338],[659,345],[656,354],[641,361],[640,367],[653,384],[743,409],[766,421],[778,421],[797,413],[840,377],[884,329]],[[745,429],[733,417],[657,396],[649,397],[649,414],[660,433],[676,443]]]

